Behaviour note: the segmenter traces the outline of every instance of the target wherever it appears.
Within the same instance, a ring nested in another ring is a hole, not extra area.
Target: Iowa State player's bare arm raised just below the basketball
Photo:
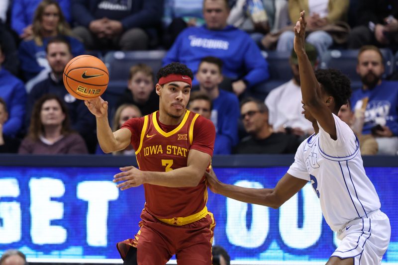
[[[130,144],[131,131],[126,128],[112,133],[108,122],[108,102],[100,96],[85,100],[90,112],[96,116],[97,138],[103,152],[111,153],[125,149]]]

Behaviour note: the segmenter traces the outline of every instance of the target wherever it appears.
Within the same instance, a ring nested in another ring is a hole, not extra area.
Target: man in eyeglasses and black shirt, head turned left
[[[268,108],[264,102],[248,97],[242,100],[240,118],[249,136],[234,148],[234,154],[294,154],[299,146],[292,134],[274,132],[268,122]]]

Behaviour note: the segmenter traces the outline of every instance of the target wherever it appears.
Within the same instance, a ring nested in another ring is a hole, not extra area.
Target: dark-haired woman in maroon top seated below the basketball
[[[83,138],[71,130],[68,110],[56,96],[43,95],[36,102],[28,135],[19,154],[87,154]]]

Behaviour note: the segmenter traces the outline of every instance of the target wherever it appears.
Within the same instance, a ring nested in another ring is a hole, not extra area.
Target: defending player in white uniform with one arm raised
[[[380,211],[375,187],[366,176],[359,142],[336,114],[351,95],[349,79],[337,70],[314,74],[305,54],[304,11],[295,27],[304,117],[315,134],[298,147],[295,162],[273,189],[253,189],[220,182],[207,174],[213,192],[278,208],[308,181],[318,196],[326,222],[342,242],[326,265],[381,264],[391,235],[390,221]]]

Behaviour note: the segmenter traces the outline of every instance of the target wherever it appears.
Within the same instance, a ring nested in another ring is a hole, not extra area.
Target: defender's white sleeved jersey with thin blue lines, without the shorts
[[[326,222],[338,231],[347,222],[379,209],[380,200],[366,176],[358,139],[345,122],[333,117],[337,140],[318,123],[318,134],[301,143],[288,173],[312,183]]]

